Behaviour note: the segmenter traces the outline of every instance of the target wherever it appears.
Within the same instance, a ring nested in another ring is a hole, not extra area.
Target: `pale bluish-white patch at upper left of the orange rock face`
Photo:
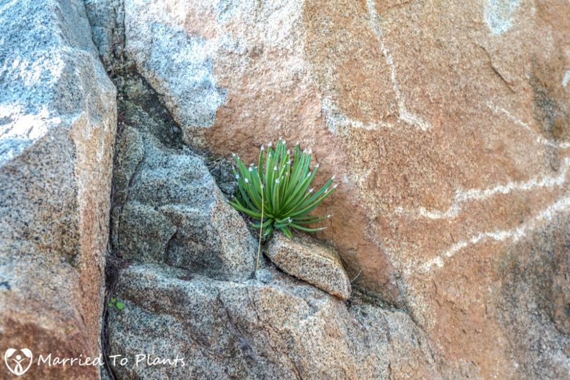
[[[172,27],[167,19],[148,22],[141,16],[152,9],[143,3],[124,4],[126,58],[159,93],[185,134],[212,127],[226,91],[216,84],[205,39]]]

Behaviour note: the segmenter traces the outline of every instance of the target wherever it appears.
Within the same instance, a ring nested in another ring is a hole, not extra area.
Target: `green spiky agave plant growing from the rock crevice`
[[[281,230],[286,237],[293,230],[316,232],[324,228],[309,228],[330,215],[318,217],[310,213],[330,195],[338,185],[332,185],[334,176],[321,189],[311,186],[319,165],[310,170],[310,150],[303,150],[299,143],[293,154],[281,138],[273,150],[269,143],[267,151],[261,147],[258,165],[247,167],[236,154],[237,169],[233,175],[238,180],[236,197],[230,204],[238,211],[258,220],[253,224],[260,233],[269,238],[274,230]]]

